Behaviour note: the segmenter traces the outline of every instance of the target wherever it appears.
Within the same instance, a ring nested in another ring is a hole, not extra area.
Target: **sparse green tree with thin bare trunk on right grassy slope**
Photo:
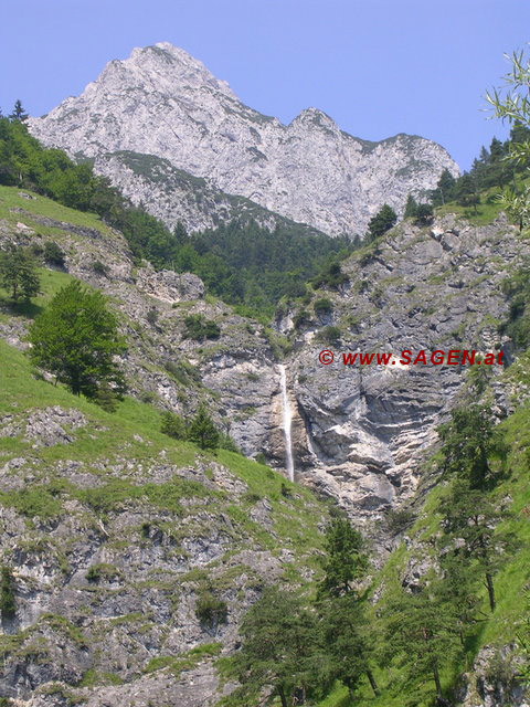
[[[475,563],[485,578],[489,608],[496,608],[494,577],[510,559],[518,544],[513,534],[496,530],[507,511],[496,508],[481,489],[469,488],[467,479],[457,479],[453,493],[442,502],[444,531],[449,544],[462,544],[460,556]]]

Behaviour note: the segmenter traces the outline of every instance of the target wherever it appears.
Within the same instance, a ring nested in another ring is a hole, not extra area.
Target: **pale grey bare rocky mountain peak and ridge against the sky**
[[[45,145],[94,159],[135,203],[190,230],[239,213],[242,204],[226,196],[239,194],[331,235],[362,234],[382,203],[401,213],[407,194],[434,188],[443,169],[458,173],[446,150],[422,137],[361,140],[317,108],[283,125],[168,42],[109,62],[81,96],[32,118],[30,129]],[[176,170],[205,179],[209,198],[193,199]],[[258,220],[267,222],[263,213]]]

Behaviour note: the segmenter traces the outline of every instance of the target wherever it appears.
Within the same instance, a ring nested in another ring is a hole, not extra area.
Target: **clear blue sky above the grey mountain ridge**
[[[0,13],[0,106],[32,115],[106,62],[170,41],[253,108],[289,123],[315,106],[379,140],[411,133],[468,168],[492,135],[484,95],[530,41],[529,0],[17,0]]]

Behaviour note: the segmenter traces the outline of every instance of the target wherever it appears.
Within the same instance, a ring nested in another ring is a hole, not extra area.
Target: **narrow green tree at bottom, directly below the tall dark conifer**
[[[356,701],[356,693],[364,675],[378,696],[379,688],[371,668],[374,632],[364,605],[350,592],[324,601],[320,616],[324,643],[335,677],[348,687],[352,701]]]

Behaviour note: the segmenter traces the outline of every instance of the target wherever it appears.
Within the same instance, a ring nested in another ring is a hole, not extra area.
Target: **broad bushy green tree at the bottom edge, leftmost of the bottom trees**
[[[242,648],[234,657],[239,704],[304,704],[331,687],[333,675],[320,644],[315,612],[292,592],[275,587],[246,614],[240,633]],[[264,699],[264,695],[266,696]],[[296,700],[296,701],[295,701]]]

